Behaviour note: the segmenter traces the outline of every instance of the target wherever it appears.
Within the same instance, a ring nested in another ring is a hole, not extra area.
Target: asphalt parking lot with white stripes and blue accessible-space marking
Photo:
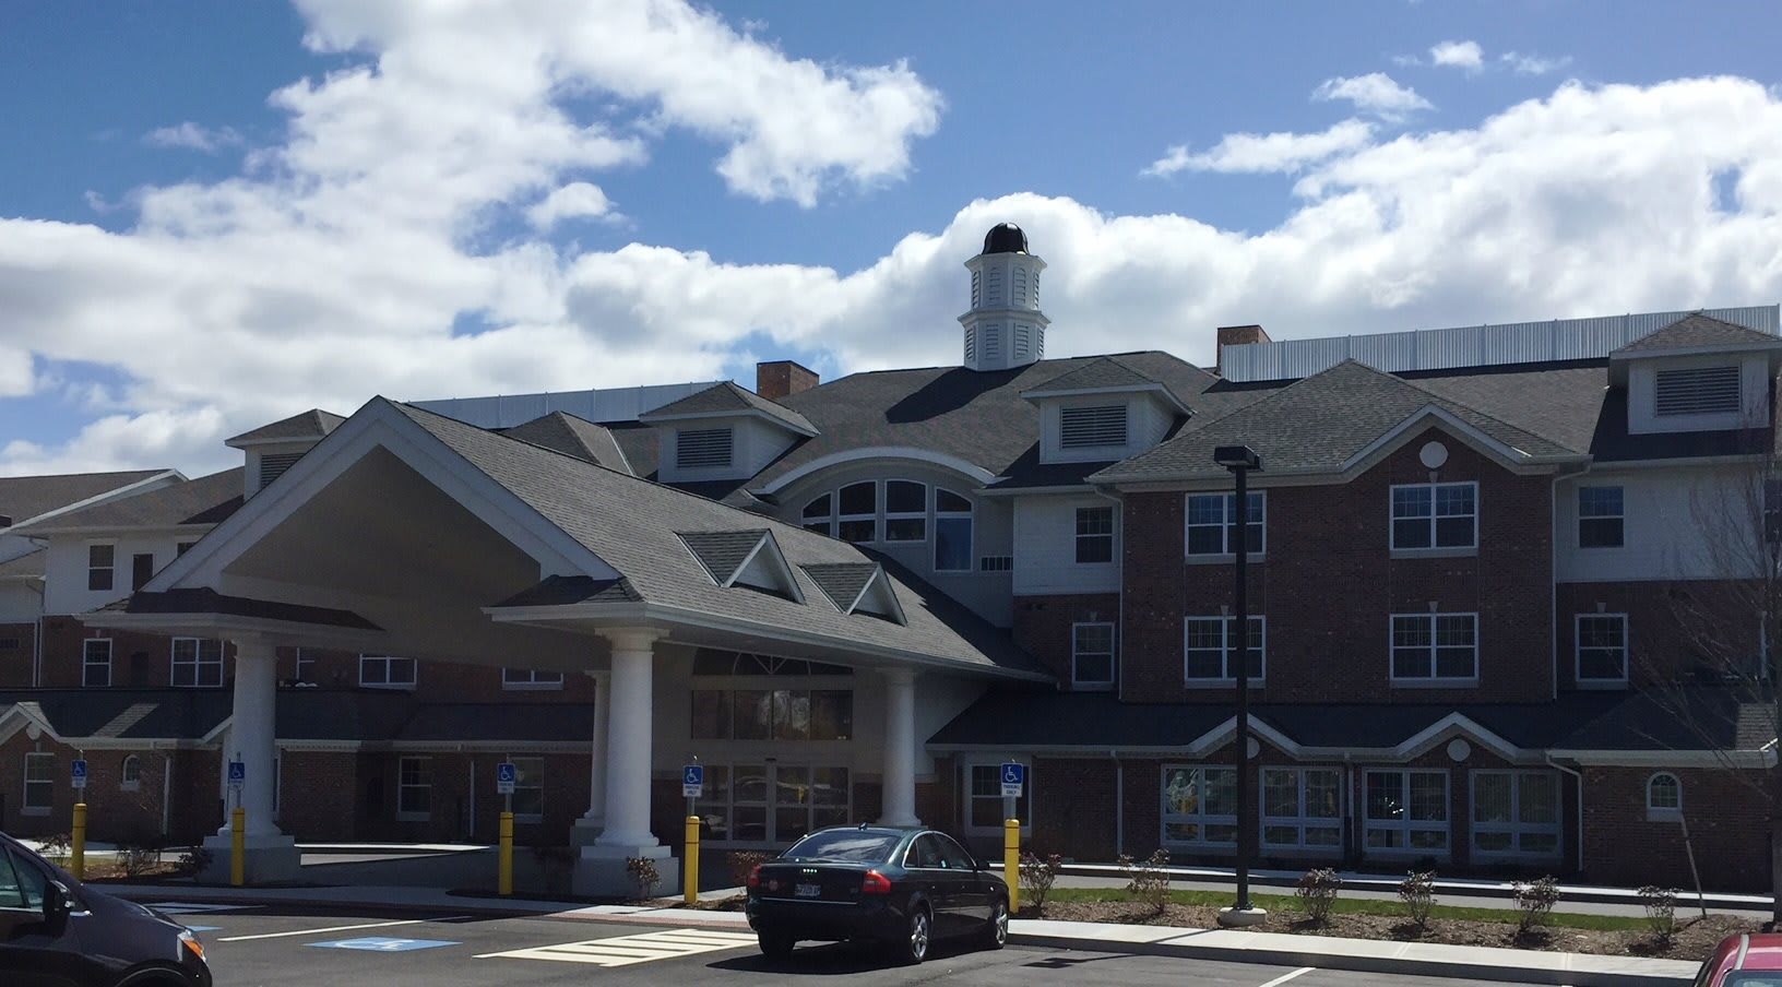
[[[889,966],[846,944],[805,946],[770,962],[754,937],[704,926],[645,926],[563,916],[470,918],[157,903],[200,930],[221,987],[383,983],[413,987],[586,983],[779,983],[788,976],[861,985],[1181,983],[1212,987],[1461,987],[1467,982],[1210,964],[1009,946],[937,948],[921,967]]]

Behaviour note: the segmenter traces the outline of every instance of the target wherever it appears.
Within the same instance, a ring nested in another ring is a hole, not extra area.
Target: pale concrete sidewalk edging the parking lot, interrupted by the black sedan
[[[652,905],[588,905],[565,909],[563,901],[467,898],[424,887],[162,887],[107,885],[107,893],[144,903],[182,901],[216,905],[307,905],[307,907],[380,907],[437,910],[472,916],[542,916],[552,919],[617,921],[704,928],[747,928],[741,912],[663,909]],[[740,889],[707,893],[723,898]],[[1497,950],[1483,946],[1442,946],[1433,942],[1379,942],[1370,939],[1335,939],[1324,935],[1287,935],[1224,928],[1169,928],[1149,925],[1110,925],[1046,919],[1009,923],[1009,941],[1053,950],[1098,953],[1148,953],[1185,960],[1251,962],[1292,967],[1347,969],[1383,975],[1454,976],[1513,983],[1554,983],[1570,987],[1686,987],[1696,964],[1643,960],[1634,957],[1597,957],[1584,953],[1543,953],[1533,950]]]

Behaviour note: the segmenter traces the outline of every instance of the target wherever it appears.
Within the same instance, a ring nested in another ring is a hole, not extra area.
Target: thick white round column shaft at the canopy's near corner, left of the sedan
[[[613,643],[613,688],[606,743],[606,832],[595,846],[656,846],[650,834],[650,741],[654,643],[661,631],[604,631]]]

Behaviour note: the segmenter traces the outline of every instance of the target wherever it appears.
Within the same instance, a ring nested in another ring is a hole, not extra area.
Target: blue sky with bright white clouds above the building
[[[1775,4],[0,5],[0,474],[372,396],[1773,305]]]

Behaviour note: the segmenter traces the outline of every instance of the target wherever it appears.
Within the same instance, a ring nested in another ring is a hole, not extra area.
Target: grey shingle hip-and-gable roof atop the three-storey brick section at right
[[[1435,406],[1529,456],[1574,456],[1575,449],[1534,435],[1435,390],[1345,360],[1294,381],[1230,415],[1181,429],[1162,445],[1116,463],[1091,479],[1219,477],[1219,445],[1244,444],[1271,472],[1336,472],[1374,440]]]

